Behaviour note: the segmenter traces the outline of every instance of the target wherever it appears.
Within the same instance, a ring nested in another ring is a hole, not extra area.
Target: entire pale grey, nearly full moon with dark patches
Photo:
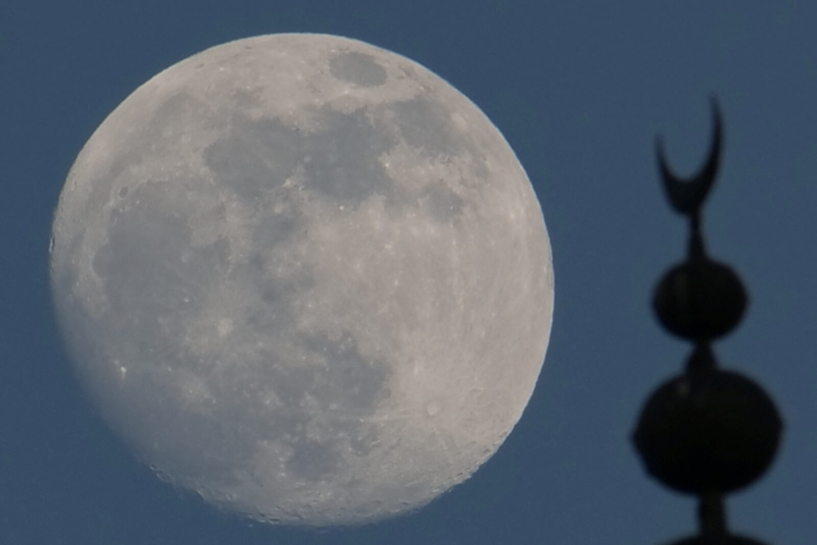
[[[471,476],[528,403],[553,308],[497,128],[422,65],[321,34],[212,47],[128,96],[60,194],[51,287],[141,460],[295,525]]]

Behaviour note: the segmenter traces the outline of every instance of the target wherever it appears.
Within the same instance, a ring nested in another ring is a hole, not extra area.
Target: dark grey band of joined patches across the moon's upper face
[[[386,118],[391,118],[394,125]],[[418,99],[378,107],[375,119],[373,125],[365,109],[343,114],[323,108],[319,110],[322,128],[313,133],[275,119],[238,118],[225,136],[204,151],[204,160],[218,183],[232,188],[248,203],[260,205],[265,202],[261,199],[264,195],[275,197],[275,192],[292,178],[304,189],[350,209],[380,194],[397,210],[418,203],[436,221],[448,223],[459,217],[463,199],[449,183],[430,181],[419,193],[408,194],[406,188],[391,180],[379,160],[400,138],[422,150],[429,161],[463,155],[481,157],[474,145],[463,143],[462,137],[455,134],[447,110]],[[291,203],[284,194],[275,202]],[[297,204],[293,206],[297,208]],[[270,233],[283,236],[283,232],[294,229],[291,213],[270,222],[277,224],[270,226]]]

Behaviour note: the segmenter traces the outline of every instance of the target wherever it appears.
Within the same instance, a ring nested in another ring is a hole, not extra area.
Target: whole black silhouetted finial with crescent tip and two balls
[[[712,342],[734,329],[747,296],[738,275],[708,257],[701,208],[717,175],[723,131],[712,99],[714,136],[707,163],[675,176],[656,141],[667,199],[690,220],[689,255],[655,288],[654,310],[670,333],[694,343],[684,371],[650,395],[633,440],[646,470],[663,485],[699,497],[699,533],[672,545],[765,545],[731,534],[724,495],[757,480],[775,458],[783,422],[774,402],[748,377],[719,369]]]

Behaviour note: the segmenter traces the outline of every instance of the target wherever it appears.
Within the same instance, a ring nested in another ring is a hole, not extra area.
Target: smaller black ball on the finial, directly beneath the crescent
[[[673,267],[655,289],[661,324],[679,337],[713,339],[729,333],[743,316],[747,296],[729,266],[701,257]]]

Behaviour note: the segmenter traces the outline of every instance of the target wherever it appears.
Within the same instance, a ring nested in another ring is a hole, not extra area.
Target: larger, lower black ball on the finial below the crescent
[[[730,492],[766,471],[783,424],[775,404],[739,373],[684,374],[659,386],[633,437],[647,471],[680,492]]]

